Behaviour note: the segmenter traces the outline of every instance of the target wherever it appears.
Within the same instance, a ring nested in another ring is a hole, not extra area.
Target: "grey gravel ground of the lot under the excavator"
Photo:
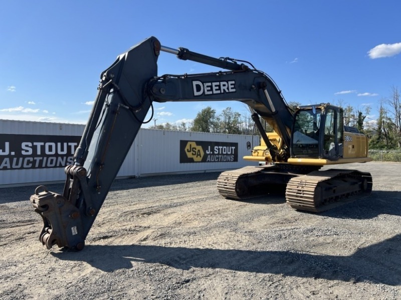
[[[320,214],[225,199],[218,173],[119,179],[80,252],[42,247],[34,186],[2,188],[0,298],[399,299],[401,163],[341,168],[373,191]]]

